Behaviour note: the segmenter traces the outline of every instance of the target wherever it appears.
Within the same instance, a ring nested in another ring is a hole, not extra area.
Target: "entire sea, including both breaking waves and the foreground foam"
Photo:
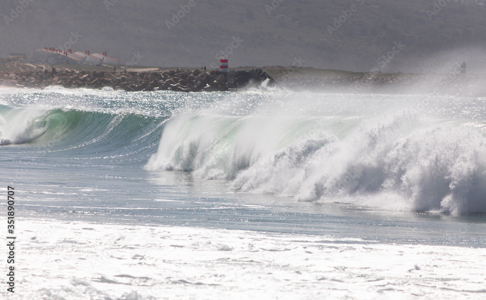
[[[486,297],[486,98],[4,88],[0,168],[2,299]]]

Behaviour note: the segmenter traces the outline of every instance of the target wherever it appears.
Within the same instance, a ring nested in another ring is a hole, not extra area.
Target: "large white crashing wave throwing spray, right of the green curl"
[[[175,114],[146,168],[299,201],[486,212],[484,100],[290,93],[219,104]]]

